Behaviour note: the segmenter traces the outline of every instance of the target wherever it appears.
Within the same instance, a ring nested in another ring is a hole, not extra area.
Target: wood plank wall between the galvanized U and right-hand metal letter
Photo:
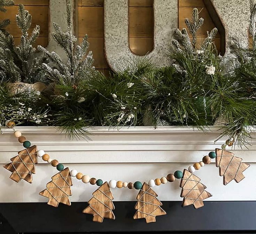
[[[201,27],[201,29],[198,31],[198,44],[197,48],[200,49],[201,43],[204,41],[204,39],[207,37],[207,31],[211,31],[213,28],[216,28],[217,26],[214,24],[212,18],[210,17],[209,11],[206,8],[203,0],[179,0],[179,28],[183,29],[186,28],[185,19],[191,18],[191,14],[193,11],[193,8],[197,7],[199,10],[199,16],[204,18],[204,24]],[[220,33],[217,34],[215,39],[216,48],[218,49],[218,52],[221,51],[221,47],[224,45],[221,45],[221,36]]]

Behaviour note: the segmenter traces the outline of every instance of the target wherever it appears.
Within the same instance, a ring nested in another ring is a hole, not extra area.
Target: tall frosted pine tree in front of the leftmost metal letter
[[[80,45],[76,46],[77,38],[73,34],[72,8],[70,0],[66,0],[67,6],[67,31],[63,32],[57,23],[54,23],[55,32],[52,33],[54,40],[65,51],[68,62],[65,64],[61,57],[55,52],[49,52],[42,46],[38,49],[56,66],[57,69],[43,64],[49,78],[60,85],[79,86],[96,75],[95,68],[92,66],[94,60],[92,52],[87,54],[89,43],[87,35],[83,38]],[[86,57],[85,57],[86,56]]]

